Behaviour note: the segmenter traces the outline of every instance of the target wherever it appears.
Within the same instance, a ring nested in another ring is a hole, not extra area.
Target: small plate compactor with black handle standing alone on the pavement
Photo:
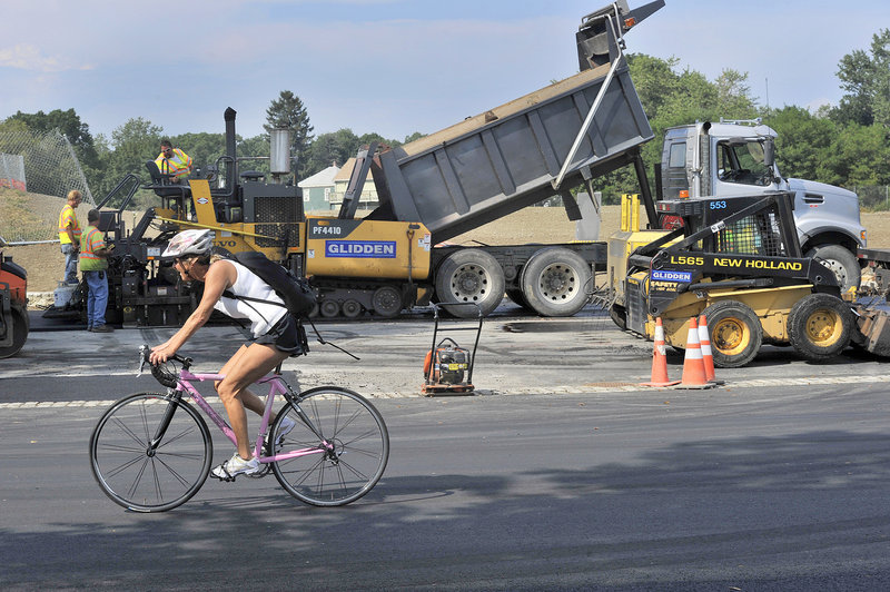
[[[475,307],[478,324],[467,325],[466,319],[459,319],[458,323],[463,323],[462,325],[439,327],[441,306],[437,304],[429,306],[433,308],[433,346],[426,353],[424,361],[424,385],[421,391],[427,396],[471,394],[475,389],[473,366],[482,335],[482,308],[476,303],[449,304],[449,307]],[[475,332],[473,349],[458,346],[451,337],[438,341],[439,333],[445,332]]]

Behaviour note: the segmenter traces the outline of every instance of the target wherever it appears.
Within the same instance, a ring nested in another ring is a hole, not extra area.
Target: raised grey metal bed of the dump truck
[[[382,152],[372,217],[422,221],[435,243],[447,240],[560,193],[553,182],[578,137],[563,188],[626,165],[653,138],[623,60]]]

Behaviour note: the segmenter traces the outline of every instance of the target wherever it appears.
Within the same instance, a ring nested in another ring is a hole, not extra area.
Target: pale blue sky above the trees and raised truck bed
[[[574,32],[605,3],[4,0],[0,119],[75,108],[93,136],[135,117],[172,136],[224,131],[230,106],[250,137],[291,90],[316,135],[403,139],[574,73]],[[666,0],[626,41],[711,80],[748,72],[761,103],[815,107],[838,102],[838,61],[882,27],[886,0]]]

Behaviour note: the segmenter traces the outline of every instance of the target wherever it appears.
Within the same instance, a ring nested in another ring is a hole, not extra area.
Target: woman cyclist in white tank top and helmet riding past
[[[250,323],[251,343],[241,345],[222,366],[225,378],[214,386],[226,407],[238,450],[210,473],[217,478],[231,478],[239,474],[259,471],[259,462],[250,451],[245,408],[263,415],[263,401],[247,387],[275,368],[285,358],[305,353],[301,328],[284,307],[284,302],[256,274],[247,267],[220,255],[212,254],[212,230],[184,230],[176,235],[161,258],[174,259],[174,268],[184,282],[204,283],[204,296],[182,328],[167,342],[152,347],[152,364],[167,362],[210,318],[217,309],[236,319]],[[225,293],[225,294],[224,294]],[[265,302],[243,300],[245,296]],[[278,306],[273,303],[280,303]],[[273,416],[271,421],[275,420]],[[279,435],[293,430],[295,422],[283,422]]]

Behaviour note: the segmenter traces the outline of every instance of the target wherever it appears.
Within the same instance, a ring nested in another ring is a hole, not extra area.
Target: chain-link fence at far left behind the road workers
[[[96,201],[68,138],[44,134],[0,134],[0,236],[9,243],[58,238],[59,213],[71,189],[83,195],[81,225]]]

